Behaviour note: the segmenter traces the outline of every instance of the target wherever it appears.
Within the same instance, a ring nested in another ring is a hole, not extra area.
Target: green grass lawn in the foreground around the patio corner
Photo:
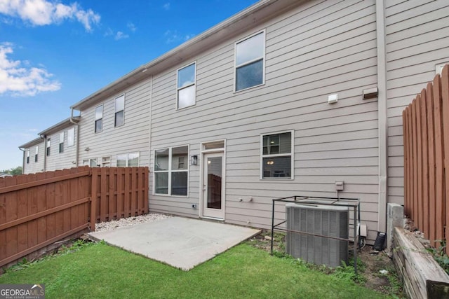
[[[249,244],[189,272],[93,244],[3,274],[0,284],[45,284],[46,298],[387,298]]]

